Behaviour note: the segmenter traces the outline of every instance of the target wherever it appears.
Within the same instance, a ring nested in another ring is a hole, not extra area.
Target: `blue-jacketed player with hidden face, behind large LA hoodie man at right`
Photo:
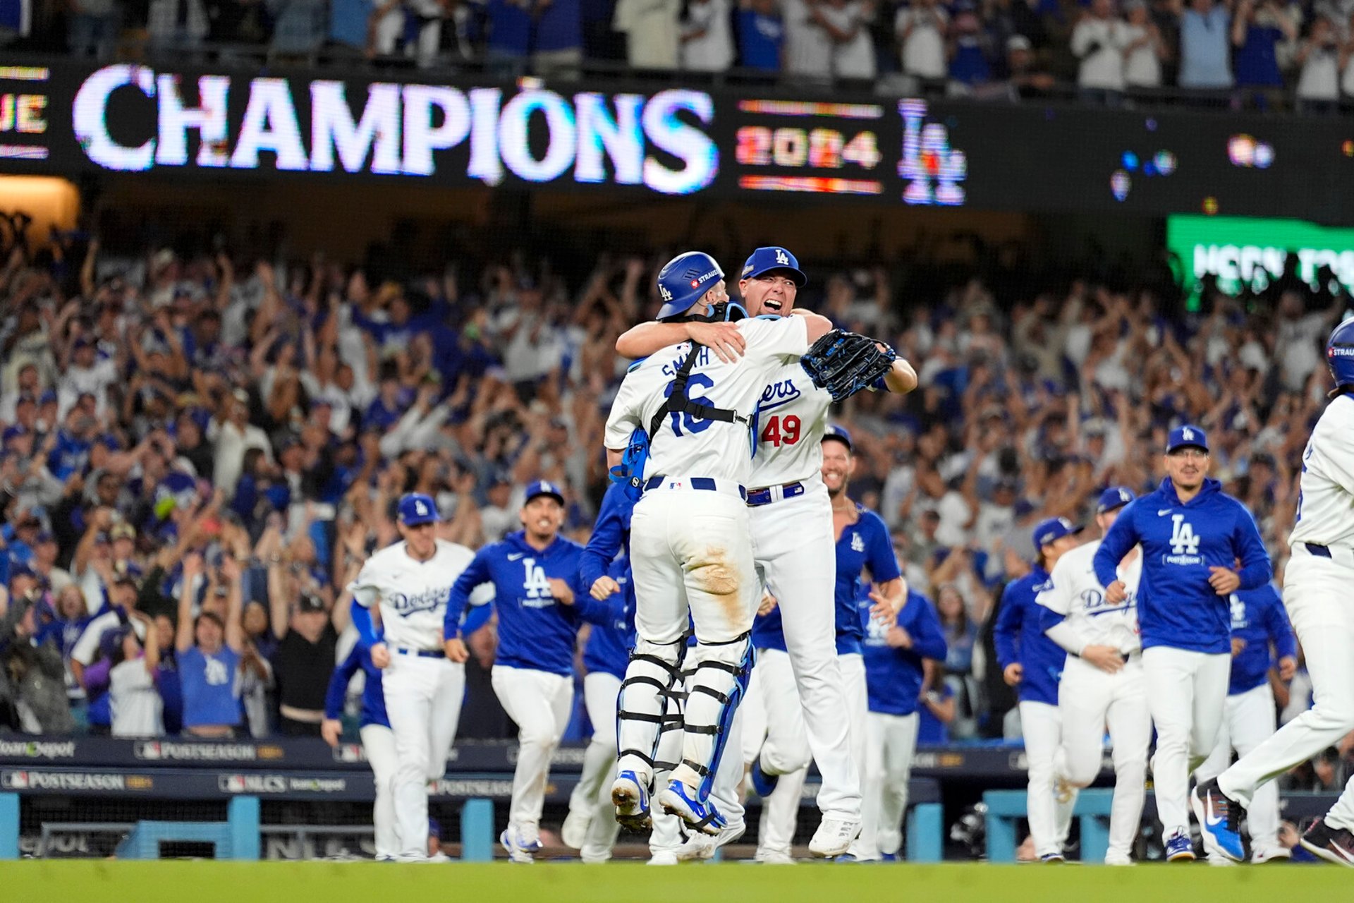
[[[1243,589],[1232,593],[1229,601],[1232,678],[1227,689],[1227,712],[1217,732],[1217,746],[1194,772],[1200,787],[1232,764],[1232,750],[1246,755],[1274,734],[1271,674],[1277,669],[1278,680],[1286,682],[1297,671],[1297,639],[1274,586]],[[1246,823],[1251,831],[1251,862],[1290,857],[1288,847],[1278,842],[1278,784],[1270,781],[1255,791]],[[1208,858],[1210,862],[1225,860],[1212,850]]]

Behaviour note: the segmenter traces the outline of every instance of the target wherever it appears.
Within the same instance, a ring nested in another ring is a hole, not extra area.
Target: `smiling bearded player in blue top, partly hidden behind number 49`
[[[869,573],[875,589],[872,600],[875,616],[883,623],[894,620],[903,607],[903,579],[898,556],[888,535],[888,527],[875,512],[858,505],[848,494],[856,459],[852,455],[850,433],[830,425],[822,439],[822,478],[833,508],[835,533],[835,575],[833,598],[837,627],[837,662],[841,669],[850,730],[850,754],[856,772],[865,773],[865,716],[868,712],[865,661],[861,655],[865,624],[857,612],[857,590],[864,571]],[[753,787],[765,800],[761,827],[757,831],[758,862],[789,862],[789,847],[799,815],[800,791],[808,777],[810,747],[804,727],[803,705],[795,686],[785,636],[781,631],[780,609],[773,608],[754,621],[753,644],[765,650],[758,655],[754,681],[766,712],[766,742],[751,764]],[[745,728],[746,730],[746,728]],[[747,742],[747,738],[745,738]],[[750,743],[749,743],[750,745]],[[772,749],[779,762],[793,762],[798,768],[774,776],[761,768],[761,755]],[[864,803],[862,803],[864,804]],[[864,829],[861,829],[864,833]],[[858,842],[848,853],[853,860],[877,860],[873,847]]]

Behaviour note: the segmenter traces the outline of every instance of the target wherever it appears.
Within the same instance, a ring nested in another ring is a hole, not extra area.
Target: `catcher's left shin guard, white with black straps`
[[[658,741],[663,731],[681,727],[678,701],[685,651],[684,640],[635,643],[616,697],[617,770],[631,770],[651,781],[655,770],[672,768],[657,761]]]

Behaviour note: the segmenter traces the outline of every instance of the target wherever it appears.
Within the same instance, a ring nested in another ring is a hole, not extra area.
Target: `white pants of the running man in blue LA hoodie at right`
[[[1213,751],[1227,708],[1232,657],[1154,646],[1143,650],[1147,704],[1156,726],[1152,783],[1162,830],[1189,831],[1189,776]]]

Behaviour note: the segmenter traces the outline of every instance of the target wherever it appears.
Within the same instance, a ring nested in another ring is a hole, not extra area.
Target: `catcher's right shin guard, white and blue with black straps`
[[[704,800],[715,783],[734,712],[747,692],[753,667],[749,634],[727,643],[697,643],[692,666],[682,722],[682,762],[673,777],[684,780],[688,769],[695,772],[699,784],[691,785]]]

